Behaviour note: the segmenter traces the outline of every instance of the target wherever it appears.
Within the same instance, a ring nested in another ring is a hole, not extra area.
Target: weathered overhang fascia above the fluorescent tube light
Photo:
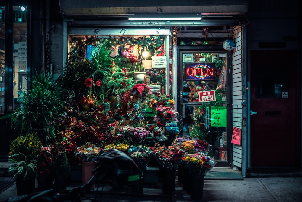
[[[248,4],[248,0],[60,0],[60,9],[65,16],[110,15],[127,17],[128,14],[156,14],[160,11],[162,14],[238,15],[247,12]]]

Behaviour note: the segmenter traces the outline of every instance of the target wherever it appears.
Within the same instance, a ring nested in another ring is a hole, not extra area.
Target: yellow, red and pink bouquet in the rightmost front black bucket
[[[193,176],[206,175],[216,164],[213,157],[203,152],[187,154],[183,157],[188,173]]]

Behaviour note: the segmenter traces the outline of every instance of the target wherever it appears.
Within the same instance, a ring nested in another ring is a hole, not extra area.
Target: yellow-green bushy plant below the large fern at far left
[[[42,143],[37,133],[20,135],[10,142],[9,155],[24,154],[29,160],[35,160],[41,151]]]

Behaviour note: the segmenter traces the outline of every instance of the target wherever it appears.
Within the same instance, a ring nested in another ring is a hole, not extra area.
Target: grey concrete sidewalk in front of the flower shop
[[[78,185],[73,184],[68,187],[72,189]],[[101,190],[101,187],[99,188]],[[160,190],[158,190],[160,191]],[[176,180],[175,194],[156,195],[145,194],[148,189],[144,188],[144,194],[125,195],[118,192],[105,192],[101,201],[110,202],[151,202],[151,201],[171,201],[184,202],[194,201],[185,191],[182,190],[182,183]],[[16,186],[12,184],[7,190],[0,194],[0,201],[9,197],[16,197]],[[203,199],[201,201],[259,201],[259,202],[286,202],[301,201],[302,199],[302,177],[264,177],[264,178],[243,178],[243,180],[204,180]]]

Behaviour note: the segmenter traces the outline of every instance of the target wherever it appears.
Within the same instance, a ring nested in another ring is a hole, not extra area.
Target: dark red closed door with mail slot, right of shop
[[[297,165],[297,52],[251,51],[250,84],[251,166]]]

